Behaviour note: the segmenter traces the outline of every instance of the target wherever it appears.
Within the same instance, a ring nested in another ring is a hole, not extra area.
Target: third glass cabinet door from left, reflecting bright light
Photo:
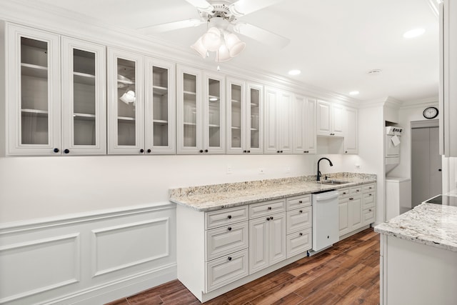
[[[109,49],[109,154],[144,154],[143,57]]]

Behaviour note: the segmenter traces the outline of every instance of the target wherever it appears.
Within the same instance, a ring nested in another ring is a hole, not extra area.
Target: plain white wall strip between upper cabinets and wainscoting
[[[0,158],[0,223],[168,201],[169,189],[181,186],[314,174],[315,158],[313,155],[4,157]],[[226,174],[228,165],[233,174]],[[259,168],[265,174],[258,174]]]

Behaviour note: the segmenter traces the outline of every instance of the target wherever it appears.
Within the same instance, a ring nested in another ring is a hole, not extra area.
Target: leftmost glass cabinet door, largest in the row
[[[9,154],[60,154],[59,36],[8,25]]]

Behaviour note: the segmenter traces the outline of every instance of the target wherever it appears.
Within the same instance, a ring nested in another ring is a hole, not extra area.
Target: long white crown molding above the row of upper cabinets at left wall
[[[266,86],[274,86],[278,89],[292,91],[295,94],[303,94],[316,99],[337,101],[357,108],[361,105],[361,101],[349,96],[271,74],[261,68],[252,71],[227,63],[218,64],[208,59],[200,59],[195,56],[194,51],[190,48],[183,48],[167,41],[145,36],[131,29],[104,24],[83,14],[49,4],[28,0],[0,0],[0,6],[2,7],[0,19],[4,21],[39,28],[76,39],[96,41],[108,47],[134,51],[145,56],[165,59],[176,64],[193,66],[197,69],[216,72],[216,68],[219,65],[221,68],[219,73],[227,76],[258,82]]]

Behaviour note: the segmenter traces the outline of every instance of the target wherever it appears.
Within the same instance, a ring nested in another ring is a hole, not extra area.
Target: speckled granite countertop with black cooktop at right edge
[[[420,204],[411,211],[378,224],[374,231],[457,251],[457,207]]]

